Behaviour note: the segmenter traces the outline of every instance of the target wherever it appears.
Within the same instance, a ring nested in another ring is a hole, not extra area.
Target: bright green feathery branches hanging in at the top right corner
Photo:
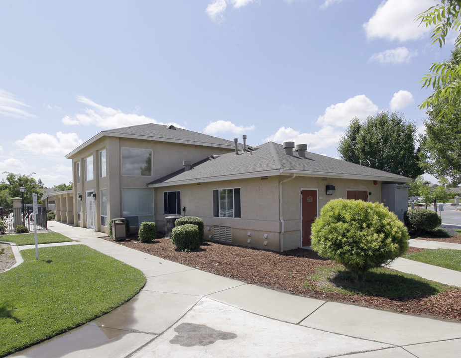
[[[450,32],[458,33],[455,48],[461,47],[461,0],[440,0],[440,3],[430,7],[417,17],[426,27],[434,26],[432,30],[432,45],[445,45]],[[461,68],[459,62],[444,61],[433,63],[430,73],[423,77],[423,88],[434,89],[420,108],[431,108],[439,105],[438,118],[450,119],[460,107],[461,98]]]

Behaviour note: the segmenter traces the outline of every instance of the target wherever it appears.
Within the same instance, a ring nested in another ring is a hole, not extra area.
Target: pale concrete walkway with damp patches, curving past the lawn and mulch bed
[[[460,357],[461,323],[294,296],[147,255],[93,230],[49,228],[141,269],[147,283],[114,311],[11,357]]]

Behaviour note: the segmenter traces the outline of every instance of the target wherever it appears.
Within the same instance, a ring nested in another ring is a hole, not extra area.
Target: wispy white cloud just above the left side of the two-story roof
[[[80,103],[85,104],[87,108],[84,109],[84,113],[78,113],[73,118],[65,116],[62,122],[66,125],[91,125],[102,128],[120,128],[131,125],[155,123],[166,125],[173,124],[178,128],[184,128],[176,123],[159,123],[153,118],[138,115],[137,113],[126,114],[119,109],[104,107],[81,95],[76,98]],[[139,111],[139,108],[136,107],[135,111]]]

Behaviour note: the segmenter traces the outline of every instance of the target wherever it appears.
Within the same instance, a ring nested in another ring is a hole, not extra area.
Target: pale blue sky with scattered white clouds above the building
[[[414,21],[434,4],[2,0],[0,173],[67,183],[71,150],[149,122],[332,157],[353,117],[399,111],[423,131],[419,81],[453,48]]]

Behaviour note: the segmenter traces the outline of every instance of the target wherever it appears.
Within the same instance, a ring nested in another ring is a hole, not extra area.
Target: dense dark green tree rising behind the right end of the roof
[[[415,179],[423,174],[415,148],[416,127],[398,112],[381,112],[364,123],[352,119],[341,138],[341,159]]]

